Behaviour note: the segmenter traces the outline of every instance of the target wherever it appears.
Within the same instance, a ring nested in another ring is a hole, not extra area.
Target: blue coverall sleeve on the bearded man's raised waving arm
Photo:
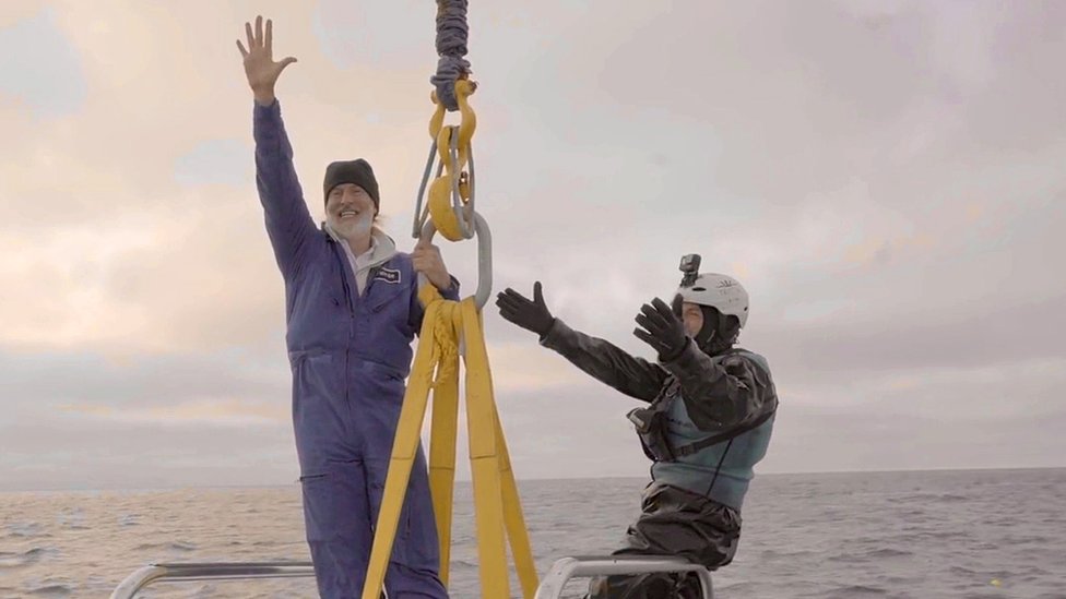
[[[304,191],[293,165],[293,146],[285,133],[279,100],[270,106],[256,103],[256,185],[263,205],[266,235],[282,275],[299,275],[317,235],[315,221],[304,201]]]

